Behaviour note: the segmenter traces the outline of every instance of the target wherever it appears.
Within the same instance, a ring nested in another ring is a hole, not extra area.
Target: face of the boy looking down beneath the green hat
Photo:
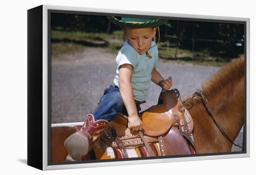
[[[132,47],[139,53],[144,54],[151,46],[152,38],[155,37],[156,28],[130,28],[124,29]]]

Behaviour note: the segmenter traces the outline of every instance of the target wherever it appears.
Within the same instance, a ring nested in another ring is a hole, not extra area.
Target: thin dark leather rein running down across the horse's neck
[[[238,144],[235,144],[235,143],[229,138],[229,136],[226,134],[226,132],[222,129],[222,127],[216,122],[216,119],[214,118],[213,114],[211,113],[211,111],[210,111],[210,109],[209,109],[209,106],[207,105],[207,102],[208,102],[208,101],[207,101],[206,97],[204,96],[204,94],[202,94],[202,90],[197,89],[197,90],[195,91],[195,93],[192,95],[192,97],[191,97],[189,100],[187,100],[186,102],[184,102],[183,104],[184,104],[184,105],[188,104],[195,96],[201,97],[201,101],[202,101],[202,103],[203,103],[203,106],[206,108],[206,110],[207,110],[209,116],[211,117],[211,119],[213,120],[213,122],[215,123],[215,125],[217,126],[217,128],[222,132],[223,136],[226,137],[226,138],[229,140],[229,142],[231,142],[231,143],[234,144],[235,146],[238,146],[239,148],[244,149],[243,146],[240,146],[240,145],[238,145]],[[192,107],[192,106],[191,106],[191,107]]]

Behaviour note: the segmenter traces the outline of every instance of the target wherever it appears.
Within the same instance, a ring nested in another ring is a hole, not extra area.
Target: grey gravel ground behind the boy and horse
[[[53,57],[52,123],[83,121],[96,108],[104,88],[113,84],[115,69],[115,55],[103,48],[86,47],[82,53]],[[164,78],[173,77],[172,88],[179,89],[183,99],[201,89],[202,81],[220,68],[160,63],[156,69]],[[141,110],[157,104],[160,92],[161,88],[152,83],[147,103],[141,105]],[[242,144],[242,139],[239,136],[236,142]],[[235,146],[232,150],[241,149]]]

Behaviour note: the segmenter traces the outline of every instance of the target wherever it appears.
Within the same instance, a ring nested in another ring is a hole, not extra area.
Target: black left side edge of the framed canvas
[[[43,170],[43,6],[27,10],[27,165]]]

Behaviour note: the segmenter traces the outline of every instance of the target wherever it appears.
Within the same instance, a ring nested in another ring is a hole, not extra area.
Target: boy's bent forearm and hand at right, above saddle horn
[[[164,80],[162,75],[155,69],[155,67],[151,71],[151,81],[164,90],[169,90],[169,88],[172,86],[172,77],[169,76],[167,80]]]

